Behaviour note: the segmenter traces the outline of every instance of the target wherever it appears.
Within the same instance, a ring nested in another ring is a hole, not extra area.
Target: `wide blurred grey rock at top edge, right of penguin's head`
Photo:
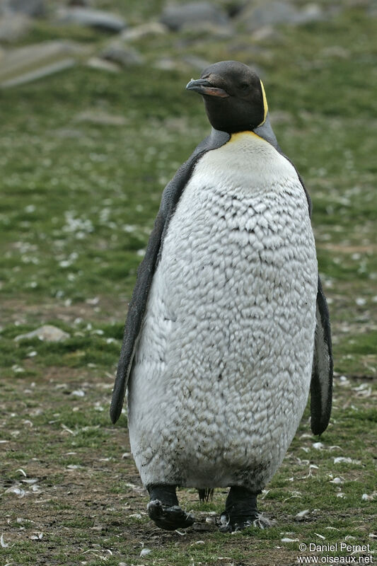
[[[258,2],[251,4],[238,16],[238,21],[245,23],[248,31],[258,30],[264,26],[273,26],[280,23],[301,25],[324,18],[322,8],[318,4],[308,4],[303,8],[296,8],[286,0],[273,0],[271,2]]]

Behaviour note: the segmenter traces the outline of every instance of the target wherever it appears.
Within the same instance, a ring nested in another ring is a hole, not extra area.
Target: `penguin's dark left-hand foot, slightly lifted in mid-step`
[[[175,485],[153,485],[148,487],[151,501],[146,506],[149,518],[156,523],[160,529],[175,531],[175,529],[187,529],[191,526],[195,517],[186,513],[179,507]]]

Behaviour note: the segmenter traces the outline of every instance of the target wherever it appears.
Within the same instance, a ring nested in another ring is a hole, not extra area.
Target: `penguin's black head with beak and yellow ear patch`
[[[266,120],[262,81],[243,63],[214,63],[186,88],[202,95],[209,122],[215,129],[233,134],[253,130]]]

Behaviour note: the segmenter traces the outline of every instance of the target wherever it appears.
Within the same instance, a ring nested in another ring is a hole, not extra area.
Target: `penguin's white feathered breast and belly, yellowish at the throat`
[[[204,154],[163,242],[129,383],[144,485],[264,487],[306,405],[316,292],[291,163],[246,132]]]

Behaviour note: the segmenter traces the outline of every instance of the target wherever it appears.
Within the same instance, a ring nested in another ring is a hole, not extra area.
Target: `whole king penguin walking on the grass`
[[[311,200],[269,122],[262,81],[226,61],[187,84],[211,133],[168,183],[124,328],[110,415],[129,439],[161,529],[195,518],[176,487],[230,487],[221,531],[265,526],[257,495],[311,391],[330,420],[332,347]]]

